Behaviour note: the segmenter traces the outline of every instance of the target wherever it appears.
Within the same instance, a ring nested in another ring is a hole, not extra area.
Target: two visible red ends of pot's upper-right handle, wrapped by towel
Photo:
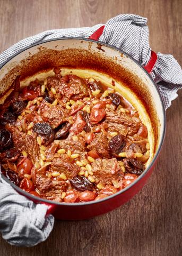
[[[102,35],[103,29],[105,28],[105,26],[101,26],[100,28],[98,28],[91,36],[89,36],[89,39],[92,40],[99,40],[99,37]],[[151,57],[149,62],[143,66],[143,68],[148,71],[149,74],[152,73],[152,70],[155,67],[155,63],[157,62],[158,56],[154,51],[151,51]]]

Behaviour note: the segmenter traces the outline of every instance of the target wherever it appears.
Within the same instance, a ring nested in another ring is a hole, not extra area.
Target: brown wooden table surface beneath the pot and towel
[[[57,28],[93,26],[120,13],[148,18],[154,51],[173,54],[182,64],[182,1],[0,0],[0,52],[21,39]],[[7,244],[2,256],[182,255],[182,93],[167,110],[167,133],[148,183],[131,201],[101,217],[55,221],[46,242],[33,248]]]

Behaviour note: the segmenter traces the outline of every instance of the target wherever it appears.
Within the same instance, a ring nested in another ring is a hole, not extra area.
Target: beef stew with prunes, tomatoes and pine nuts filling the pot
[[[145,170],[146,126],[114,89],[54,71],[23,89],[15,79],[0,112],[1,172],[30,194],[58,202],[115,194]]]

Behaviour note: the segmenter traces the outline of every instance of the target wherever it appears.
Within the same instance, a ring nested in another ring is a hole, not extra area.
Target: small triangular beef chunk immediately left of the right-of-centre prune
[[[96,150],[100,157],[109,158],[109,145],[108,139],[105,134],[98,133],[96,137],[87,146],[89,150]]]

